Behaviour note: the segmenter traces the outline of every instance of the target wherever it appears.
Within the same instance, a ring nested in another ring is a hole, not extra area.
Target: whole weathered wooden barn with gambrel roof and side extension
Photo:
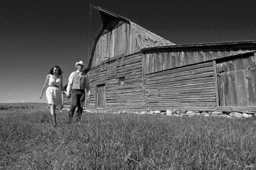
[[[256,112],[256,41],[178,45],[91,7],[102,27],[84,70],[91,85],[86,108]],[[69,102],[64,98],[64,107]]]

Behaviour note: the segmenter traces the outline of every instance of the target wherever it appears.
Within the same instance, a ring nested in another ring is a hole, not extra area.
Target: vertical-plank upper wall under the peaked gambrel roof
[[[124,53],[124,56],[140,51],[140,46],[133,32],[132,26],[124,23],[112,31],[101,35],[97,42],[92,66],[100,65],[102,60]]]

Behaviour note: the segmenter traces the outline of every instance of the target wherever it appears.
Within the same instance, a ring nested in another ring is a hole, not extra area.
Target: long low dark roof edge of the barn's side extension
[[[184,49],[214,49],[214,48],[232,48],[232,47],[252,47],[256,46],[256,40],[248,41],[225,41],[225,42],[206,42],[193,44],[180,44],[162,47],[150,47],[141,49],[142,52],[165,51],[165,50],[184,50]]]

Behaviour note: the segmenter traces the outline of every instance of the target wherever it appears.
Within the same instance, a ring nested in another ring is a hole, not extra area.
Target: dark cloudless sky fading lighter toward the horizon
[[[0,103],[47,102],[39,93],[52,65],[64,72],[63,85],[76,62],[87,65],[101,26],[91,3],[178,44],[256,40],[247,1],[1,1]]]

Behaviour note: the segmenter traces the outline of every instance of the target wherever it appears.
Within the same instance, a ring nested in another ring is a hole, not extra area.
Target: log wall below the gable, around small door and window
[[[117,60],[116,60],[117,61]],[[142,54],[124,56],[118,60],[119,67],[116,67],[116,76],[108,78],[108,68],[97,66],[91,69],[91,100],[90,109],[95,109],[96,86],[105,84],[105,110],[108,111],[135,111],[143,109],[142,89]],[[105,65],[108,67],[108,64]],[[104,67],[104,66],[103,66]],[[119,78],[125,77],[125,84],[119,86]]]

